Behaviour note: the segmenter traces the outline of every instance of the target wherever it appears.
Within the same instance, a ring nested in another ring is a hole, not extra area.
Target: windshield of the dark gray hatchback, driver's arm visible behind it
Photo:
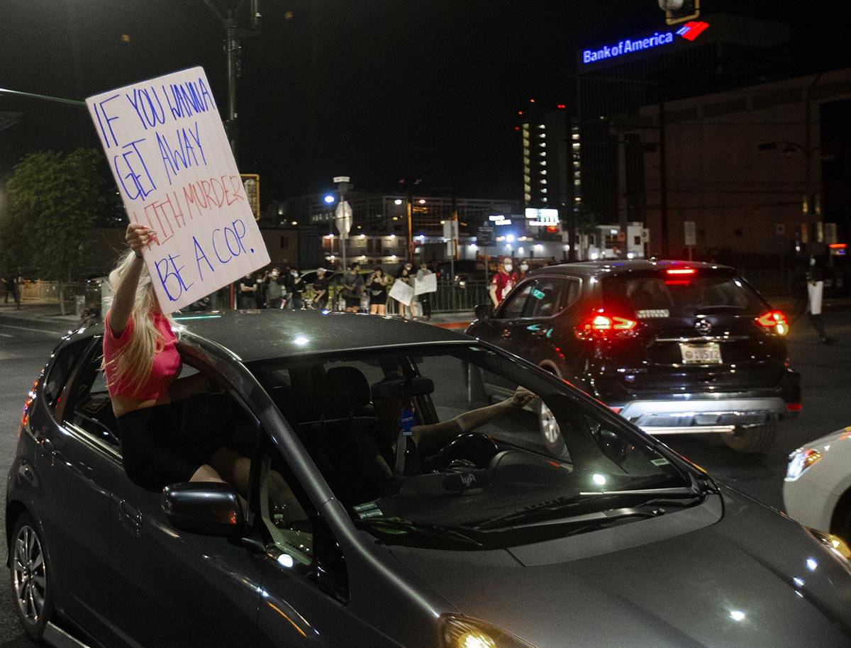
[[[507,546],[566,532],[557,522],[575,514],[694,495],[683,469],[614,414],[494,350],[250,368],[335,497],[383,542]],[[524,535],[541,520],[549,531]]]

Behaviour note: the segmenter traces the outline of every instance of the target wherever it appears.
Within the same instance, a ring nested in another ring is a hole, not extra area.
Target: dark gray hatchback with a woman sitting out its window
[[[26,400],[7,484],[10,584],[33,638],[851,644],[842,543],[713,482],[540,367],[369,315],[179,322],[186,371],[218,375],[217,415],[252,458],[247,509],[227,485],[131,483],[102,332],[65,338]],[[273,501],[273,473],[299,511]]]

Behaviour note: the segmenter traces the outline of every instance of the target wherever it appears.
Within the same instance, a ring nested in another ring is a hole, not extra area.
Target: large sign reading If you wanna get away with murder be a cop
[[[203,68],[86,99],[164,313],[269,263]]]

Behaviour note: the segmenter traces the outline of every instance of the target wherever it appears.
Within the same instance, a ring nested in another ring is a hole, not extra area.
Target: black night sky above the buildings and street
[[[844,23],[826,13],[842,3],[702,4],[791,24],[796,72],[848,65]],[[260,0],[260,10],[237,108],[239,166],[261,174],[264,202],[327,189],[338,174],[396,191],[409,173],[426,193],[448,194],[454,175],[460,196],[517,199],[517,108],[564,101],[580,45],[664,26],[656,0]],[[203,65],[224,109],[223,39],[202,0],[6,0],[0,87],[83,99]],[[0,111],[26,113],[0,133],[0,156],[98,145],[84,111],[2,96]],[[0,173],[13,163],[0,160]]]

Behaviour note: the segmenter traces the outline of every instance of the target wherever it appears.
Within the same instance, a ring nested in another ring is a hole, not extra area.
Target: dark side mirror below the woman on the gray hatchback
[[[163,512],[176,529],[205,536],[238,537],[245,514],[236,489],[215,481],[186,481],[163,488]]]

